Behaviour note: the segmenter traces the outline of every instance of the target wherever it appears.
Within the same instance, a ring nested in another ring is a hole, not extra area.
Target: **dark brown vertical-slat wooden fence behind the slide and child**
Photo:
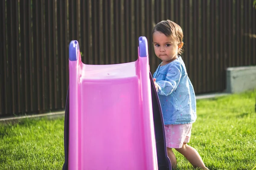
[[[86,64],[137,59],[138,38],[161,20],[184,32],[196,94],[225,90],[227,67],[256,65],[253,0],[0,0],[0,117],[65,108],[68,45]]]

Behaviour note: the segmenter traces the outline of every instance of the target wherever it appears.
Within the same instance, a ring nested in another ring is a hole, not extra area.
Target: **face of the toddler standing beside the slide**
[[[178,48],[181,48],[183,42],[178,42],[173,37],[166,37],[160,31],[153,33],[154,51],[158,58],[163,61],[164,64],[168,64],[177,58]]]

